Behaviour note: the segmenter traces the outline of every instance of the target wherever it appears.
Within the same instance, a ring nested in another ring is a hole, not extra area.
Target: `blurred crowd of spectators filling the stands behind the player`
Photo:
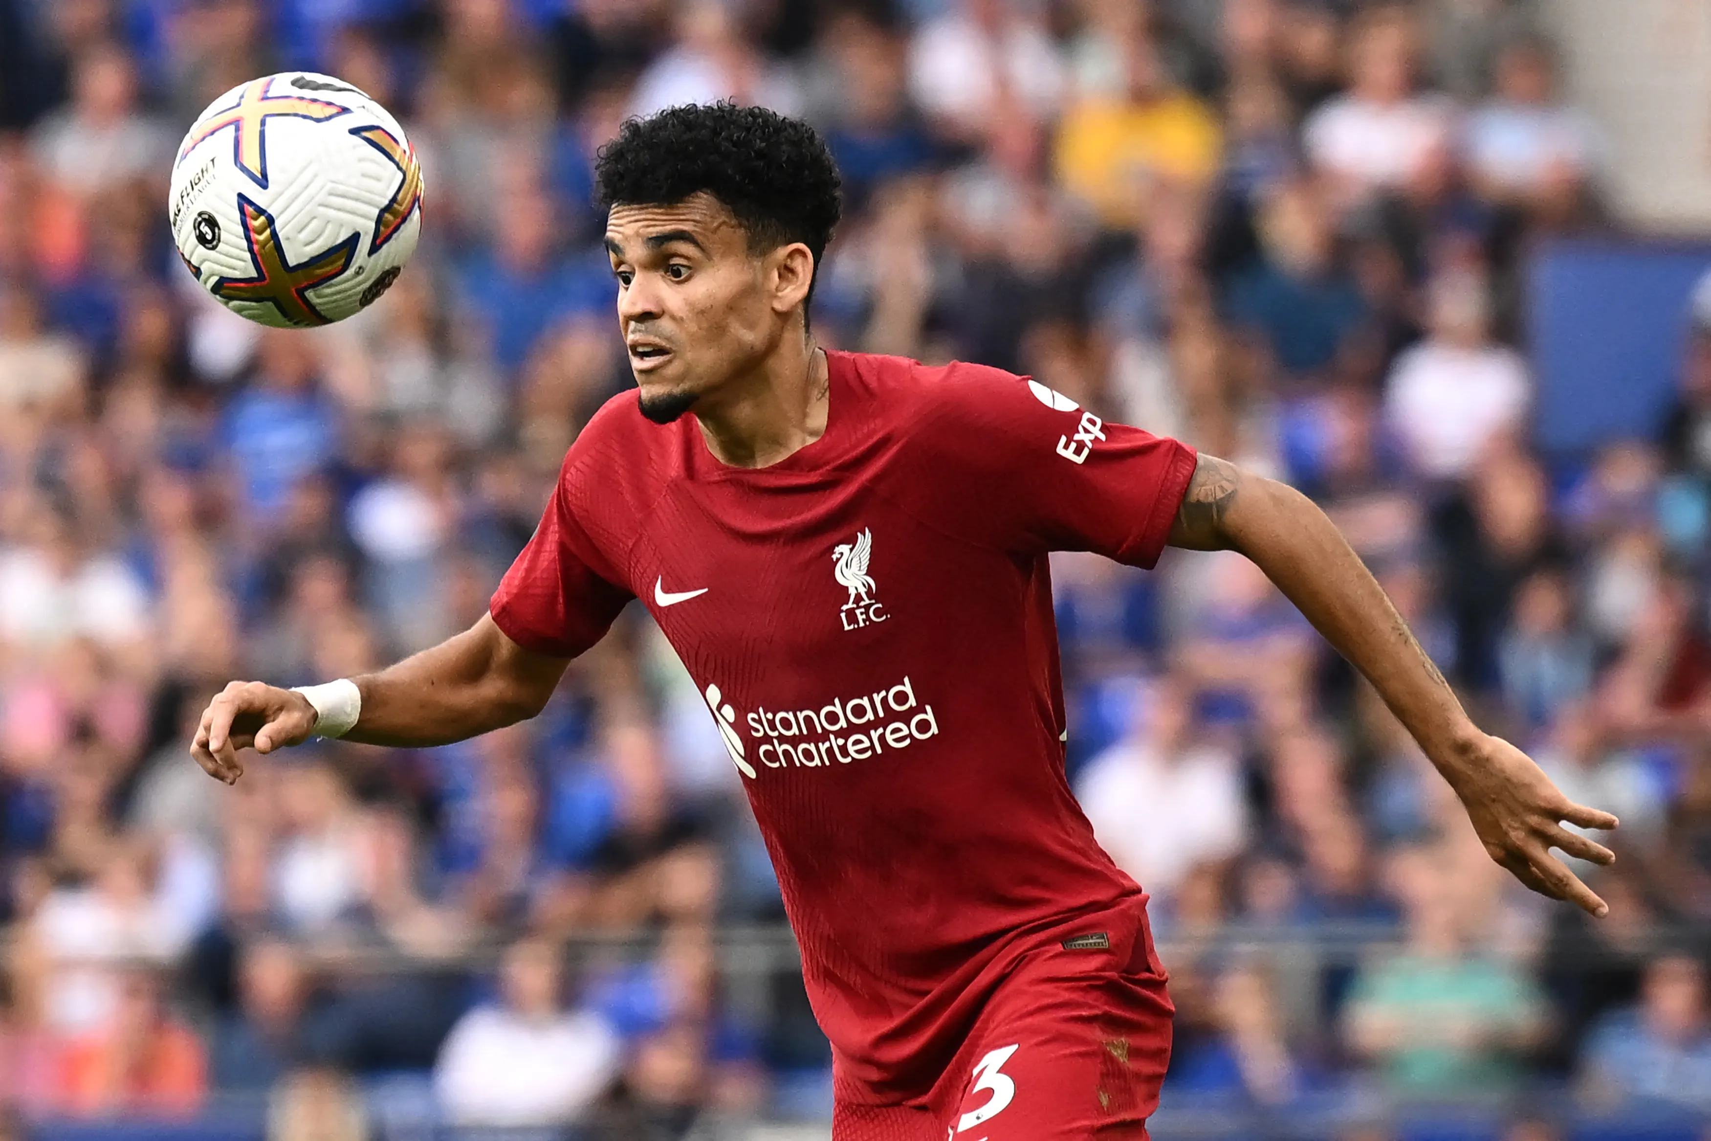
[[[594,151],[734,98],[842,166],[821,344],[1309,491],[1480,724],[1622,818],[1608,919],[1531,898],[1240,556],[1054,558],[1069,780],[1172,972],[1167,1107],[1711,1112],[1711,291],[1651,438],[1530,448],[1528,251],[1613,226],[1533,7],[0,0],[0,1105],[272,1091],[275,1136],[344,1138],[402,1074],[476,1124],[825,1110],[799,982],[739,1001],[777,886],[640,607],[505,732],[234,787],[186,756],[233,677],[483,614],[631,383]],[[313,334],[219,308],[166,231],[183,128],[281,68],[378,98],[426,178],[412,265]]]

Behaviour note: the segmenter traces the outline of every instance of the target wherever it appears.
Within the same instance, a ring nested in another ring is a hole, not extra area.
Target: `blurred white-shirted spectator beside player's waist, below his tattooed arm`
[[[1247,826],[1240,763],[1228,749],[1194,741],[1189,701],[1175,679],[1148,686],[1129,736],[1076,780],[1100,847],[1165,898],[1194,867],[1235,855]]]

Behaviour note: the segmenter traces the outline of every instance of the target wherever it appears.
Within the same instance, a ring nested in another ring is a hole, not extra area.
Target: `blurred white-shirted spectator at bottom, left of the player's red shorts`
[[[594,1011],[566,1009],[561,951],[546,939],[512,944],[498,1006],[459,1020],[440,1049],[433,1085],[460,1126],[539,1127],[583,1117],[618,1078],[618,1032]]]

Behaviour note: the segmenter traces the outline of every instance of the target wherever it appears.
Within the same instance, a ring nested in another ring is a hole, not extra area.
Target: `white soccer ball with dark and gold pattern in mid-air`
[[[275,328],[344,320],[387,291],[423,226],[404,128],[356,87],[281,72],[233,87],[178,147],[168,200],[185,265]]]

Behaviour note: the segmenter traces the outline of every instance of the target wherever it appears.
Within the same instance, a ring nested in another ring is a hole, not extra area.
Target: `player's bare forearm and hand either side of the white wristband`
[[[527,650],[489,614],[460,635],[390,665],[352,677],[361,715],[347,741],[426,748],[477,737],[534,717],[546,706],[568,657]],[[315,734],[317,712],[296,689],[234,681],[202,712],[190,754],[210,777],[243,775],[240,749],[272,753]]]

